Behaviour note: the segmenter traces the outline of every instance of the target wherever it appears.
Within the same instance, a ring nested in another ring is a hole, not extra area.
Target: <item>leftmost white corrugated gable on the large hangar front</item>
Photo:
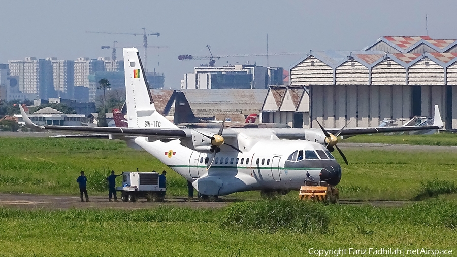
[[[290,71],[291,85],[331,85],[333,69],[313,56],[293,67]]]

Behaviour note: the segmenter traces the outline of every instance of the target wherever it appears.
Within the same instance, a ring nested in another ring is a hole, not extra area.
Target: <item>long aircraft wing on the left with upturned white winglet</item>
[[[38,130],[59,130],[59,131],[68,131],[68,132],[82,132],[82,133],[96,133],[92,135],[80,135],[79,137],[86,138],[109,138],[109,135],[112,136],[145,136],[154,138],[156,140],[160,139],[179,139],[187,137],[186,132],[182,129],[154,129],[154,128],[117,128],[117,127],[86,127],[86,126],[54,126],[46,125],[39,126],[33,123],[30,118],[28,118],[22,106],[19,106],[22,119],[25,122],[25,125],[29,128],[34,128]],[[100,134],[99,134],[100,133]],[[72,137],[72,136],[69,136]],[[77,136],[75,136],[77,137]]]

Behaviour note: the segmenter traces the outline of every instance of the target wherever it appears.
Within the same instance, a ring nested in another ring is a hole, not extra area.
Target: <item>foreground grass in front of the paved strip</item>
[[[243,216],[248,225],[232,228],[230,223],[235,224],[237,216],[230,210],[243,204],[234,204],[226,210],[23,211],[0,208],[0,255],[307,256],[310,248],[457,250],[457,206],[443,200],[402,208],[299,203],[312,211],[296,213],[294,217],[299,220],[292,227],[306,225],[310,214],[320,213],[323,221],[314,229],[309,227],[302,232],[276,222],[276,219],[283,221],[281,215],[286,211],[265,218],[255,203],[251,204],[253,210],[249,214],[257,214],[263,217],[260,222],[270,222],[282,229],[273,232],[257,229],[249,223],[256,218],[249,216]],[[227,219],[227,215],[233,218]],[[221,222],[223,217],[225,223]],[[312,220],[319,222],[319,218]]]

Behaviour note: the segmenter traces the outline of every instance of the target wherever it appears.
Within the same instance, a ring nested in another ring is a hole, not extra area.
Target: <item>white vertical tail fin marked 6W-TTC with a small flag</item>
[[[124,48],[123,52],[128,127],[177,128],[155,110],[138,50]]]

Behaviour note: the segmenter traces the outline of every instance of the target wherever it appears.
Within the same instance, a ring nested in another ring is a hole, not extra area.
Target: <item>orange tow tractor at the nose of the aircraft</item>
[[[334,186],[328,185],[325,181],[305,180],[305,186],[300,188],[299,199],[312,200],[316,202],[336,203],[339,192]]]

